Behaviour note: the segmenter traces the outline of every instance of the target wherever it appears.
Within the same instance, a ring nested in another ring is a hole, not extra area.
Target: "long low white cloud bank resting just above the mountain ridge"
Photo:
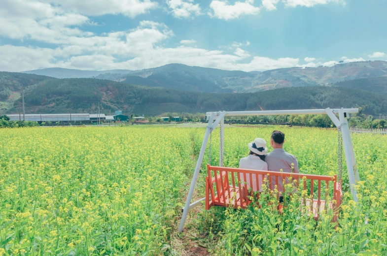
[[[299,65],[299,59],[270,59],[260,56],[253,56],[250,62],[241,63],[250,54],[240,47],[232,54],[184,45],[176,48],[163,47],[163,43],[173,35],[164,24],[143,21],[131,31],[111,32],[101,36],[67,36],[68,41],[60,43],[56,49],[1,46],[0,69],[22,71],[58,66],[136,70],[181,63],[252,71]]]

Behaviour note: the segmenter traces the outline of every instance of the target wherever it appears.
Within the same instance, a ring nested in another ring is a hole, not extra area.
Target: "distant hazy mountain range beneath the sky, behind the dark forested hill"
[[[45,68],[25,72],[56,78],[94,77],[183,91],[254,93],[289,87],[331,85],[342,81],[387,76],[387,62],[364,61],[336,64],[332,67],[291,67],[264,72],[228,71],[183,64],[168,64],[137,71]]]

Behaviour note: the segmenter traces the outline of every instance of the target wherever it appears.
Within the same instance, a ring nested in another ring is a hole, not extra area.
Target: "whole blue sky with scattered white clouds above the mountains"
[[[0,70],[387,60],[386,0],[1,0]]]

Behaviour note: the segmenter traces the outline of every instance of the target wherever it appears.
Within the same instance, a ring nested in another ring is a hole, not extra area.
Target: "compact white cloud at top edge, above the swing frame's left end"
[[[242,15],[257,14],[259,7],[252,4],[254,0],[246,0],[245,2],[236,1],[234,4],[229,4],[227,1],[212,0],[210,8],[212,12],[209,14],[223,20],[237,19]]]

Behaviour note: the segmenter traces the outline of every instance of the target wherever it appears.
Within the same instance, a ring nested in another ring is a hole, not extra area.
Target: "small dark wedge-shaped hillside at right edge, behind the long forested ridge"
[[[375,93],[387,94],[387,76],[343,81],[335,83],[333,86],[339,86],[347,89],[361,89]]]

